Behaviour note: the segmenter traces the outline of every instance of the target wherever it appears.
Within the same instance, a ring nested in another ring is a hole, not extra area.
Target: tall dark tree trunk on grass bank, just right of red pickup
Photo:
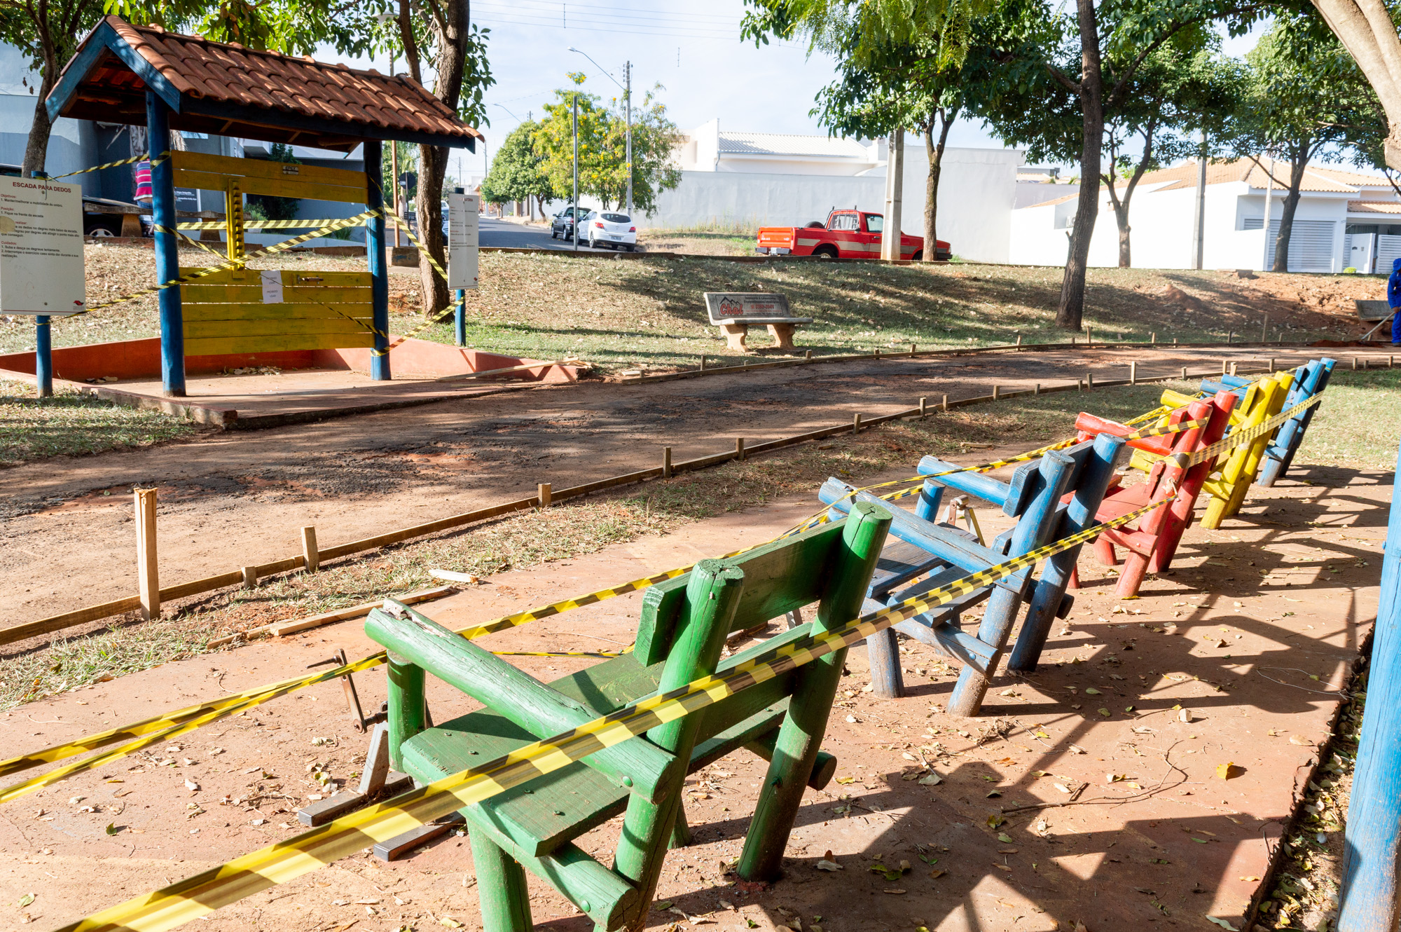
[[[1100,71],[1100,29],[1093,0],[1076,0],[1080,20],[1080,202],[1061,280],[1056,327],[1080,329],[1084,314],[1084,276],[1090,262],[1090,237],[1100,213],[1100,150],[1104,147],[1104,76]]]

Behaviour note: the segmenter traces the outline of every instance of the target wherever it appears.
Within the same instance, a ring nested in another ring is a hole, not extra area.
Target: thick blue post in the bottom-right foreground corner
[[[1367,711],[1348,802],[1339,932],[1394,929],[1401,921],[1401,457],[1391,489],[1381,603],[1372,631]]]

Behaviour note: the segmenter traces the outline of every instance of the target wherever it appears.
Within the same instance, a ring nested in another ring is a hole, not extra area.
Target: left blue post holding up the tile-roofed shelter
[[[171,163],[170,107],[154,91],[146,91],[146,139],[151,153],[151,221],[156,224],[156,280],[179,277],[179,247],[175,241],[175,165]],[[161,385],[170,398],[185,397],[185,313],[179,286],[163,289]]]

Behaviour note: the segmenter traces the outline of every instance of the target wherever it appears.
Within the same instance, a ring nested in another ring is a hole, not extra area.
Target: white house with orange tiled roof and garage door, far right
[[[1265,163],[1269,164],[1268,161]],[[1208,163],[1203,265],[1208,269],[1267,269],[1283,214],[1289,165],[1275,163],[1265,241],[1268,172],[1254,160]],[[1195,161],[1143,175],[1129,203],[1133,268],[1192,266],[1196,210]],[[1309,165],[1289,241],[1290,272],[1390,270],[1401,256],[1401,196],[1381,175]],[[1121,188],[1122,193],[1122,188]],[[1079,193],[1012,212],[1010,261],[1063,265]],[[1118,224],[1108,189],[1090,240],[1090,265],[1118,265]]]

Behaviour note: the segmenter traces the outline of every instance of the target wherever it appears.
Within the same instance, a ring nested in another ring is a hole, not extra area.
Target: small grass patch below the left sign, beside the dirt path
[[[160,411],[123,408],[76,391],[41,399],[29,383],[0,378],[0,467],[149,447],[199,429]]]

